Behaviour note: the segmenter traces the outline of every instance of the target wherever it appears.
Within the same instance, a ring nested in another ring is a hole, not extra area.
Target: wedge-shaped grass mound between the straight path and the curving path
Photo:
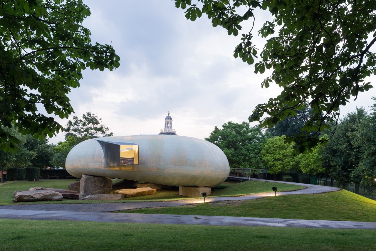
[[[374,222],[376,201],[341,190],[321,194],[281,195],[256,200],[211,202],[120,212]]]

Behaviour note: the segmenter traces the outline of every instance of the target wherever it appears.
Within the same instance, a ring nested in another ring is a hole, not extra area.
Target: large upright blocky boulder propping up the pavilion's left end
[[[96,177],[82,174],[80,180],[80,200],[92,194],[110,194],[112,180],[107,177]]]

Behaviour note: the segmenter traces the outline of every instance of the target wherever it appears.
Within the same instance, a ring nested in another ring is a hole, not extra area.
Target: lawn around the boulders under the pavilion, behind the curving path
[[[5,183],[0,183],[0,205],[12,205],[13,202],[13,192],[17,190],[29,190],[30,187],[49,187],[49,188],[59,188],[68,189],[68,184],[75,182],[76,180],[70,179],[45,179],[40,181],[8,181]],[[121,182],[121,179],[116,179],[113,184]],[[244,194],[251,193],[262,193],[270,192],[273,183],[263,182],[263,181],[246,181],[242,183],[235,182],[224,182],[223,184],[213,188],[212,196],[240,196]],[[278,184],[278,191],[292,191],[302,189],[304,187],[300,185],[290,185],[290,184]],[[114,187],[113,190],[120,188]],[[73,203],[119,203],[119,202],[137,202],[137,201],[167,201],[167,200],[180,200],[180,199],[191,199],[189,197],[183,197],[179,195],[178,190],[158,190],[156,194],[130,197],[124,200],[116,201],[95,201],[95,200],[73,200],[64,199],[61,201],[42,201],[42,202],[19,202],[18,204],[73,204]]]

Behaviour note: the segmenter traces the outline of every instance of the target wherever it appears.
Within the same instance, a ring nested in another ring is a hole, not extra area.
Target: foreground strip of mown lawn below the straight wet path
[[[0,219],[2,250],[375,250],[376,230]]]

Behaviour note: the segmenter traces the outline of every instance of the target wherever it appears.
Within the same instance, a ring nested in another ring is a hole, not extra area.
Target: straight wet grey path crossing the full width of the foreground
[[[88,213],[41,210],[0,210],[0,218],[31,220],[73,220],[94,222],[161,223],[185,225],[262,226],[300,228],[355,228],[376,229],[376,222],[354,222],[337,220],[297,220],[232,216],[201,216],[180,214],[130,214]]]

